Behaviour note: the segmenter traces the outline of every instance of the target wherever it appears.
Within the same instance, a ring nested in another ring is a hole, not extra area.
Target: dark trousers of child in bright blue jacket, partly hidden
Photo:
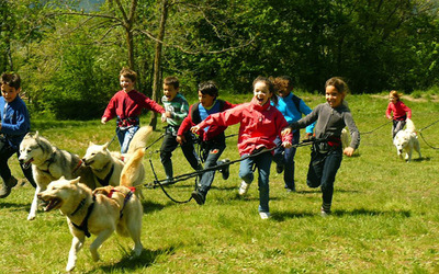
[[[292,145],[297,145],[299,139],[301,138],[301,133],[299,130],[295,130],[293,134],[293,140]],[[283,182],[285,183],[285,189],[293,190],[295,187],[294,185],[294,156],[296,148],[284,148],[282,147],[282,140],[277,137],[274,140],[274,144],[278,146],[274,149],[274,156],[273,156],[273,161],[279,164],[283,165]]]

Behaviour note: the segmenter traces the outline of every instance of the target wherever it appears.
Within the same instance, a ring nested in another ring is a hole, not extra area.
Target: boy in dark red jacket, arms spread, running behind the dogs
[[[143,109],[151,110],[157,113],[165,113],[165,109],[145,94],[136,91],[137,73],[128,68],[123,68],[120,72],[122,90],[116,92],[110,100],[109,105],[102,116],[102,124],[117,117],[116,134],[121,152],[128,150],[130,141],[139,128],[139,116]]]

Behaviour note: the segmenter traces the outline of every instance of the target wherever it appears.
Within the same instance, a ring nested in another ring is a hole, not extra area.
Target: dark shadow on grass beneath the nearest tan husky
[[[150,266],[159,256],[171,255],[175,253],[176,248],[167,248],[159,250],[144,250],[137,258],[133,258],[131,254],[126,254],[120,262],[111,265],[100,267],[104,273],[113,273],[116,270],[123,270],[123,272],[132,272],[142,270]],[[95,273],[98,270],[91,270],[88,273]]]

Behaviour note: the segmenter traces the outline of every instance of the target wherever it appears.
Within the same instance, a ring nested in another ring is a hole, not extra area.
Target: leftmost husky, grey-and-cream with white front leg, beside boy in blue
[[[81,178],[81,183],[94,189],[94,175],[91,169],[82,165],[79,156],[66,150],[58,149],[47,139],[41,137],[38,132],[35,135],[26,134],[20,144],[20,162],[24,168],[32,164],[32,172],[36,183],[35,195],[32,201],[27,219],[36,217],[36,195],[46,190],[47,185],[61,176],[66,179]]]

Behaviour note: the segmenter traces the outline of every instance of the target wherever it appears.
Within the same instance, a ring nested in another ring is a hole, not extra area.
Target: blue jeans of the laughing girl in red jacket
[[[248,157],[248,155],[243,155],[241,159]],[[270,178],[270,167],[273,156],[271,151],[267,151],[264,153],[258,155],[256,157],[249,157],[240,162],[239,165],[239,178],[244,180],[244,182],[250,184],[254,179],[254,164],[258,169],[259,178],[258,178],[258,186],[259,186],[259,207],[258,210],[262,213],[269,213],[269,199],[270,199],[270,186],[269,186],[269,178]]]

